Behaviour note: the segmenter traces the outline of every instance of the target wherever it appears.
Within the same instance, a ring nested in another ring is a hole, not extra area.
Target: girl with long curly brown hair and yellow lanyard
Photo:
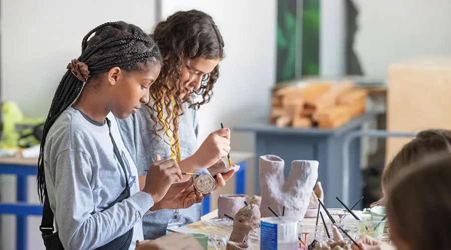
[[[172,158],[182,171],[192,172],[208,168],[230,151],[228,128],[210,133],[197,147],[196,109],[210,100],[219,76],[218,63],[224,57],[224,41],[213,18],[199,10],[179,11],[159,22],[151,36],[163,57],[160,76],[150,86],[149,103],[118,120],[142,181],[149,176],[144,176],[145,170],[156,155]],[[235,171],[217,174],[215,186],[225,185]],[[146,214],[144,238],[160,237],[168,226],[196,222],[200,215],[200,204]]]

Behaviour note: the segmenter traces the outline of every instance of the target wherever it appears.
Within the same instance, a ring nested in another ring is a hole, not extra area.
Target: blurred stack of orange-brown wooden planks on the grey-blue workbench
[[[336,128],[366,110],[368,91],[351,81],[308,81],[273,92],[270,122],[279,127]]]

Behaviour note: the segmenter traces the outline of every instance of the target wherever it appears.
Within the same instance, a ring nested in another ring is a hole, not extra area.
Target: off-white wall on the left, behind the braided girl
[[[80,55],[83,36],[95,26],[124,20],[151,31],[155,0],[2,0],[1,99],[16,101],[27,116],[46,116],[67,63]],[[82,16],[85,16],[82,18]],[[2,201],[15,201],[13,177],[2,177]],[[29,201],[39,203],[35,178]],[[44,249],[40,217],[29,218],[28,249]],[[2,216],[2,249],[16,249],[15,218]]]

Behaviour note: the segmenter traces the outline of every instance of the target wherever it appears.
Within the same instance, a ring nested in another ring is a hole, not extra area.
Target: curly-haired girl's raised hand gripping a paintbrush
[[[192,155],[200,167],[209,167],[230,151],[230,129],[221,128],[208,135]]]

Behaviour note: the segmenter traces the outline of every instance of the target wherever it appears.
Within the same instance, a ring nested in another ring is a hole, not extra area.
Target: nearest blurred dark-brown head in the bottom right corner
[[[399,250],[451,248],[451,154],[428,154],[388,187],[390,237]]]

